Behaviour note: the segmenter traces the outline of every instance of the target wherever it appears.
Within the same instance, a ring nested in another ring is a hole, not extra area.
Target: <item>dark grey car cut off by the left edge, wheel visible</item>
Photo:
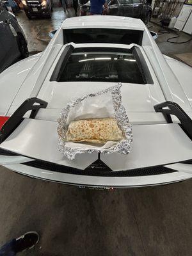
[[[0,4],[0,72],[29,55],[28,43],[13,13]]]

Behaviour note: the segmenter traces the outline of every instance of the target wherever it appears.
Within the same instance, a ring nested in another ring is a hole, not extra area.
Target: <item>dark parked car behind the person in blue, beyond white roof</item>
[[[79,0],[79,16],[90,15],[90,1]],[[146,0],[108,0],[109,12],[104,15],[133,17],[148,23],[152,15],[151,1]]]

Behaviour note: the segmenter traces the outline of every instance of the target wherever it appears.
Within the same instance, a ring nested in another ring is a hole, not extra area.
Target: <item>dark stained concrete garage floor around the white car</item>
[[[20,13],[29,51],[42,51],[47,33],[64,18],[61,8],[51,20],[28,20]],[[164,53],[191,51],[191,43],[170,46],[166,38],[157,40]],[[40,243],[20,255],[191,256],[191,196],[192,180],[110,192],[30,179],[0,167],[0,244],[36,230]]]

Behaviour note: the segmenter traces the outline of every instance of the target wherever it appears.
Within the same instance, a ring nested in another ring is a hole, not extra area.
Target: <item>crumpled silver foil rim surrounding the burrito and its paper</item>
[[[61,117],[58,118],[58,136],[59,136],[59,145],[58,150],[62,152],[68,159],[72,160],[76,157],[76,154],[83,154],[83,153],[93,153],[98,152],[102,154],[111,154],[118,152],[119,154],[129,154],[130,148],[131,148],[131,142],[132,142],[132,126],[129,124],[129,118],[127,116],[127,113],[125,111],[124,106],[122,106],[122,96],[120,93],[120,87],[122,86],[122,83],[118,83],[115,86],[111,86],[107,88],[106,90],[102,90],[100,92],[96,93],[90,93],[87,95],[84,95],[82,98],[78,98],[76,100],[72,100],[71,102],[68,102],[65,108],[61,111]],[[115,118],[118,124],[118,127],[122,130],[124,134],[125,140],[121,140],[116,145],[113,145],[110,148],[99,148],[99,149],[77,149],[77,148],[71,148],[67,147],[66,145],[66,134],[68,130],[67,125],[67,118],[68,113],[70,112],[70,109],[74,108],[77,104],[81,103],[84,99],[97,97],[97,95],[102,95],[104,93],[111,92],[111,97],[113,100],[113,108],[115,113]]]

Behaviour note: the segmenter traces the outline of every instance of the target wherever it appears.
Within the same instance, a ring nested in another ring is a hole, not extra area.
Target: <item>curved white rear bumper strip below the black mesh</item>
[[[23,168],[21,164],[5,165],[4,167],[22,175],[36,179],[58,182],[73,186],[99,187],[99,188],[135,188],[143,186],[157,186],[180,182],[190,179],[192,175],[182,172],[174,172],[161,175],[150,175],[147,177],[95,177],[73,175],[68,173],[45,172],[34,168]]]

